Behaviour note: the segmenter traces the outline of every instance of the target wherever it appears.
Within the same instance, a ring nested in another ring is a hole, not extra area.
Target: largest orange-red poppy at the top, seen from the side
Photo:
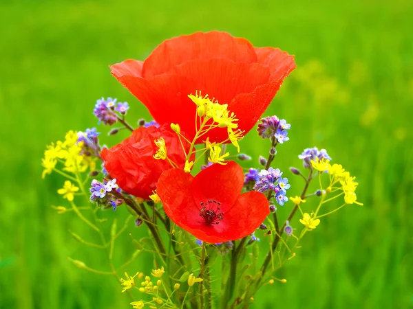
[[[248,133],[295,62],[277,48],[253,47],[244,38],[213,31],[171,38],[145,61],[125,60],[111,69],[158,123],[178,123],[194,137],[195,104],[187,95],[198,90],[228,104]],[[224,141],[228,135],[225,128],[215,128],[202,140],[207,137]]]

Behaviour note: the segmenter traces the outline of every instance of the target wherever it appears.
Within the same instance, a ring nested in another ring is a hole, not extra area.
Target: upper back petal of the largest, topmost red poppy
[[[257,62],[254,47],[244,38],[226,32],[196,32],[164,41],[145,60],[142,76],[151,78],[189,60],[228,59]]]

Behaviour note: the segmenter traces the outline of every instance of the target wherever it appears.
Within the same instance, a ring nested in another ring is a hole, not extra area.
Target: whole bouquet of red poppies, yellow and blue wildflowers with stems
[[[135,128],[126,102],[98,100],[94,115],[114,126],[109,135],[122,129],[131,135],[107,148],[96,128],[70,131],[47,146],[43,177],[65,177],[58,193],[67,206],[56,209],[73,211],[100,235],[96,244],[71,232],[105,249],[110,270],[69,260],[114,275],[133,308],[249,308],[262,286],[286,283],[277,271],[324,216],[361,205],[354,177],[331,164],[324,149],[305,149],[298,156],[301,170],[273,166],[291,126],[277,116],[260,118],[295,69],[286,52],[224,32],[195,33],[165,41],[144,62],[125,60],[111,69],[153,120],[138,120]],[[251,158],[240,153],[242,138],[257,122],[258,135],[268,139],[268,158],[244,170],[238,161]],[[290,188],[287,176],[301,177],[302,188]],[[329,208],[336,198],[342,205]],[[288,207],[289,215],[279,216],[279,207]],[[123,227],[116,218],[100,218],[106,209],[129,211]],[[116,266],[115,242],[133,225],[136,232],[125,237],[136,250]],[[268,245],[259,247],[260,238]],[[141,252],[153,254],[153,264],[129,268]]]

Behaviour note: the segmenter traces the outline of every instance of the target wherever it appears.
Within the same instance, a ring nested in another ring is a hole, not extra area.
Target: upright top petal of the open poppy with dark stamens
[[[197,205],[208,200],[222,204],[221,211],[229,210],[240,196],[244,184],[244,172],[240,165],[229,161],[226,165],[215,163],[202,170],[193,179],[191,192]]]

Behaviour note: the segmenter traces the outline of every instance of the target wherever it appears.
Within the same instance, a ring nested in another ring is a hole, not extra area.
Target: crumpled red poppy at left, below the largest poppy
[[[154,141],[160,137],[165,139],[169,159],[183,168],[185,156],[182,146],[178,135],[167,124],[160,128],[155,126],[137,128],[120,144],[102,150],[100,155],[105,161],[105,169],[112,178],[116,179],[116,183],[122,190],[134,196],[149,199],[149,195],[156,189],[160,174],[172,168],[167,160],[153,158],[158,150]],[[186,151],[188,150],[189,146]]]

